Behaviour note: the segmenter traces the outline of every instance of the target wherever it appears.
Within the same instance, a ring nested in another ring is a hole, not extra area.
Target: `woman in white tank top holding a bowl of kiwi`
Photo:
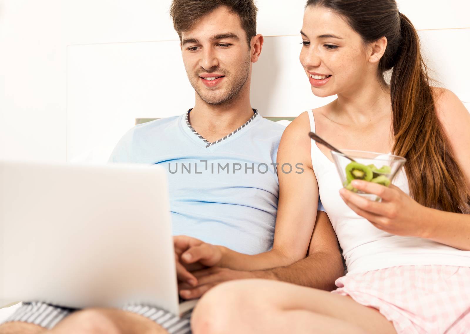
[[[194,332],[468,333],[468,111],[429,85],[415,28],[394,0],[309,0],[301,34],[313,93],[338,98],[292,122],[278,156],[311,157],[349,272],[333,293],[226,283],[199,303]],[[383,199],[371,202],[340,189],[329,150],[311,143],[309,131],[335,147],[392,152],[407,163],[396,186],[353,181]]]

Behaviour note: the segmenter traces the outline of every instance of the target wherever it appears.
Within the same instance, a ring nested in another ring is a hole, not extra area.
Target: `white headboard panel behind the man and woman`
[[[470,102],[468,54],[447,47],[470,40],[470,29],[420,31],[420,37],[433,76]],[[334,99],[312,94],[298,60],[299,40],[266,37],[253,64],[251,102],[265,117],[296,117]],[[70,46],[67,55],[69,159],[104,158],[135,118],[180,115],[194,105],[179,41]]]

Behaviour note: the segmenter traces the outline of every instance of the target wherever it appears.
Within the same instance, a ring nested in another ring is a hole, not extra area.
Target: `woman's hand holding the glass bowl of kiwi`
[[[359,216],[366,218],[377,228],[396,235],[423,237],[427,225],[425,210],[428,208],[416,202],[396,186],[385,187],[376,183],[353,180],[352,186],[368,194],[376,194],[382,202],[370,201],[341,189],[341,198]]]

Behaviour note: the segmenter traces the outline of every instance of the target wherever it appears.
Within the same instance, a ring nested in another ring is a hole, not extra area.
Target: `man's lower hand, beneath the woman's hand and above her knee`
[[[196,287],[184,282],[178,285],[180,296],[184,299],[199,298],[212,287],[229,280],[268,278],[269,272],[244,272],[228,268],[212,267],[193,272],[193,274],[197,278],[198,282]]]

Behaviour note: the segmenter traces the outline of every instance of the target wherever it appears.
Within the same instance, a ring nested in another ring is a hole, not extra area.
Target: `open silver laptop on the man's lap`
[[[0,299],[175,315],[166,172],[141,164],[0,162]]]

